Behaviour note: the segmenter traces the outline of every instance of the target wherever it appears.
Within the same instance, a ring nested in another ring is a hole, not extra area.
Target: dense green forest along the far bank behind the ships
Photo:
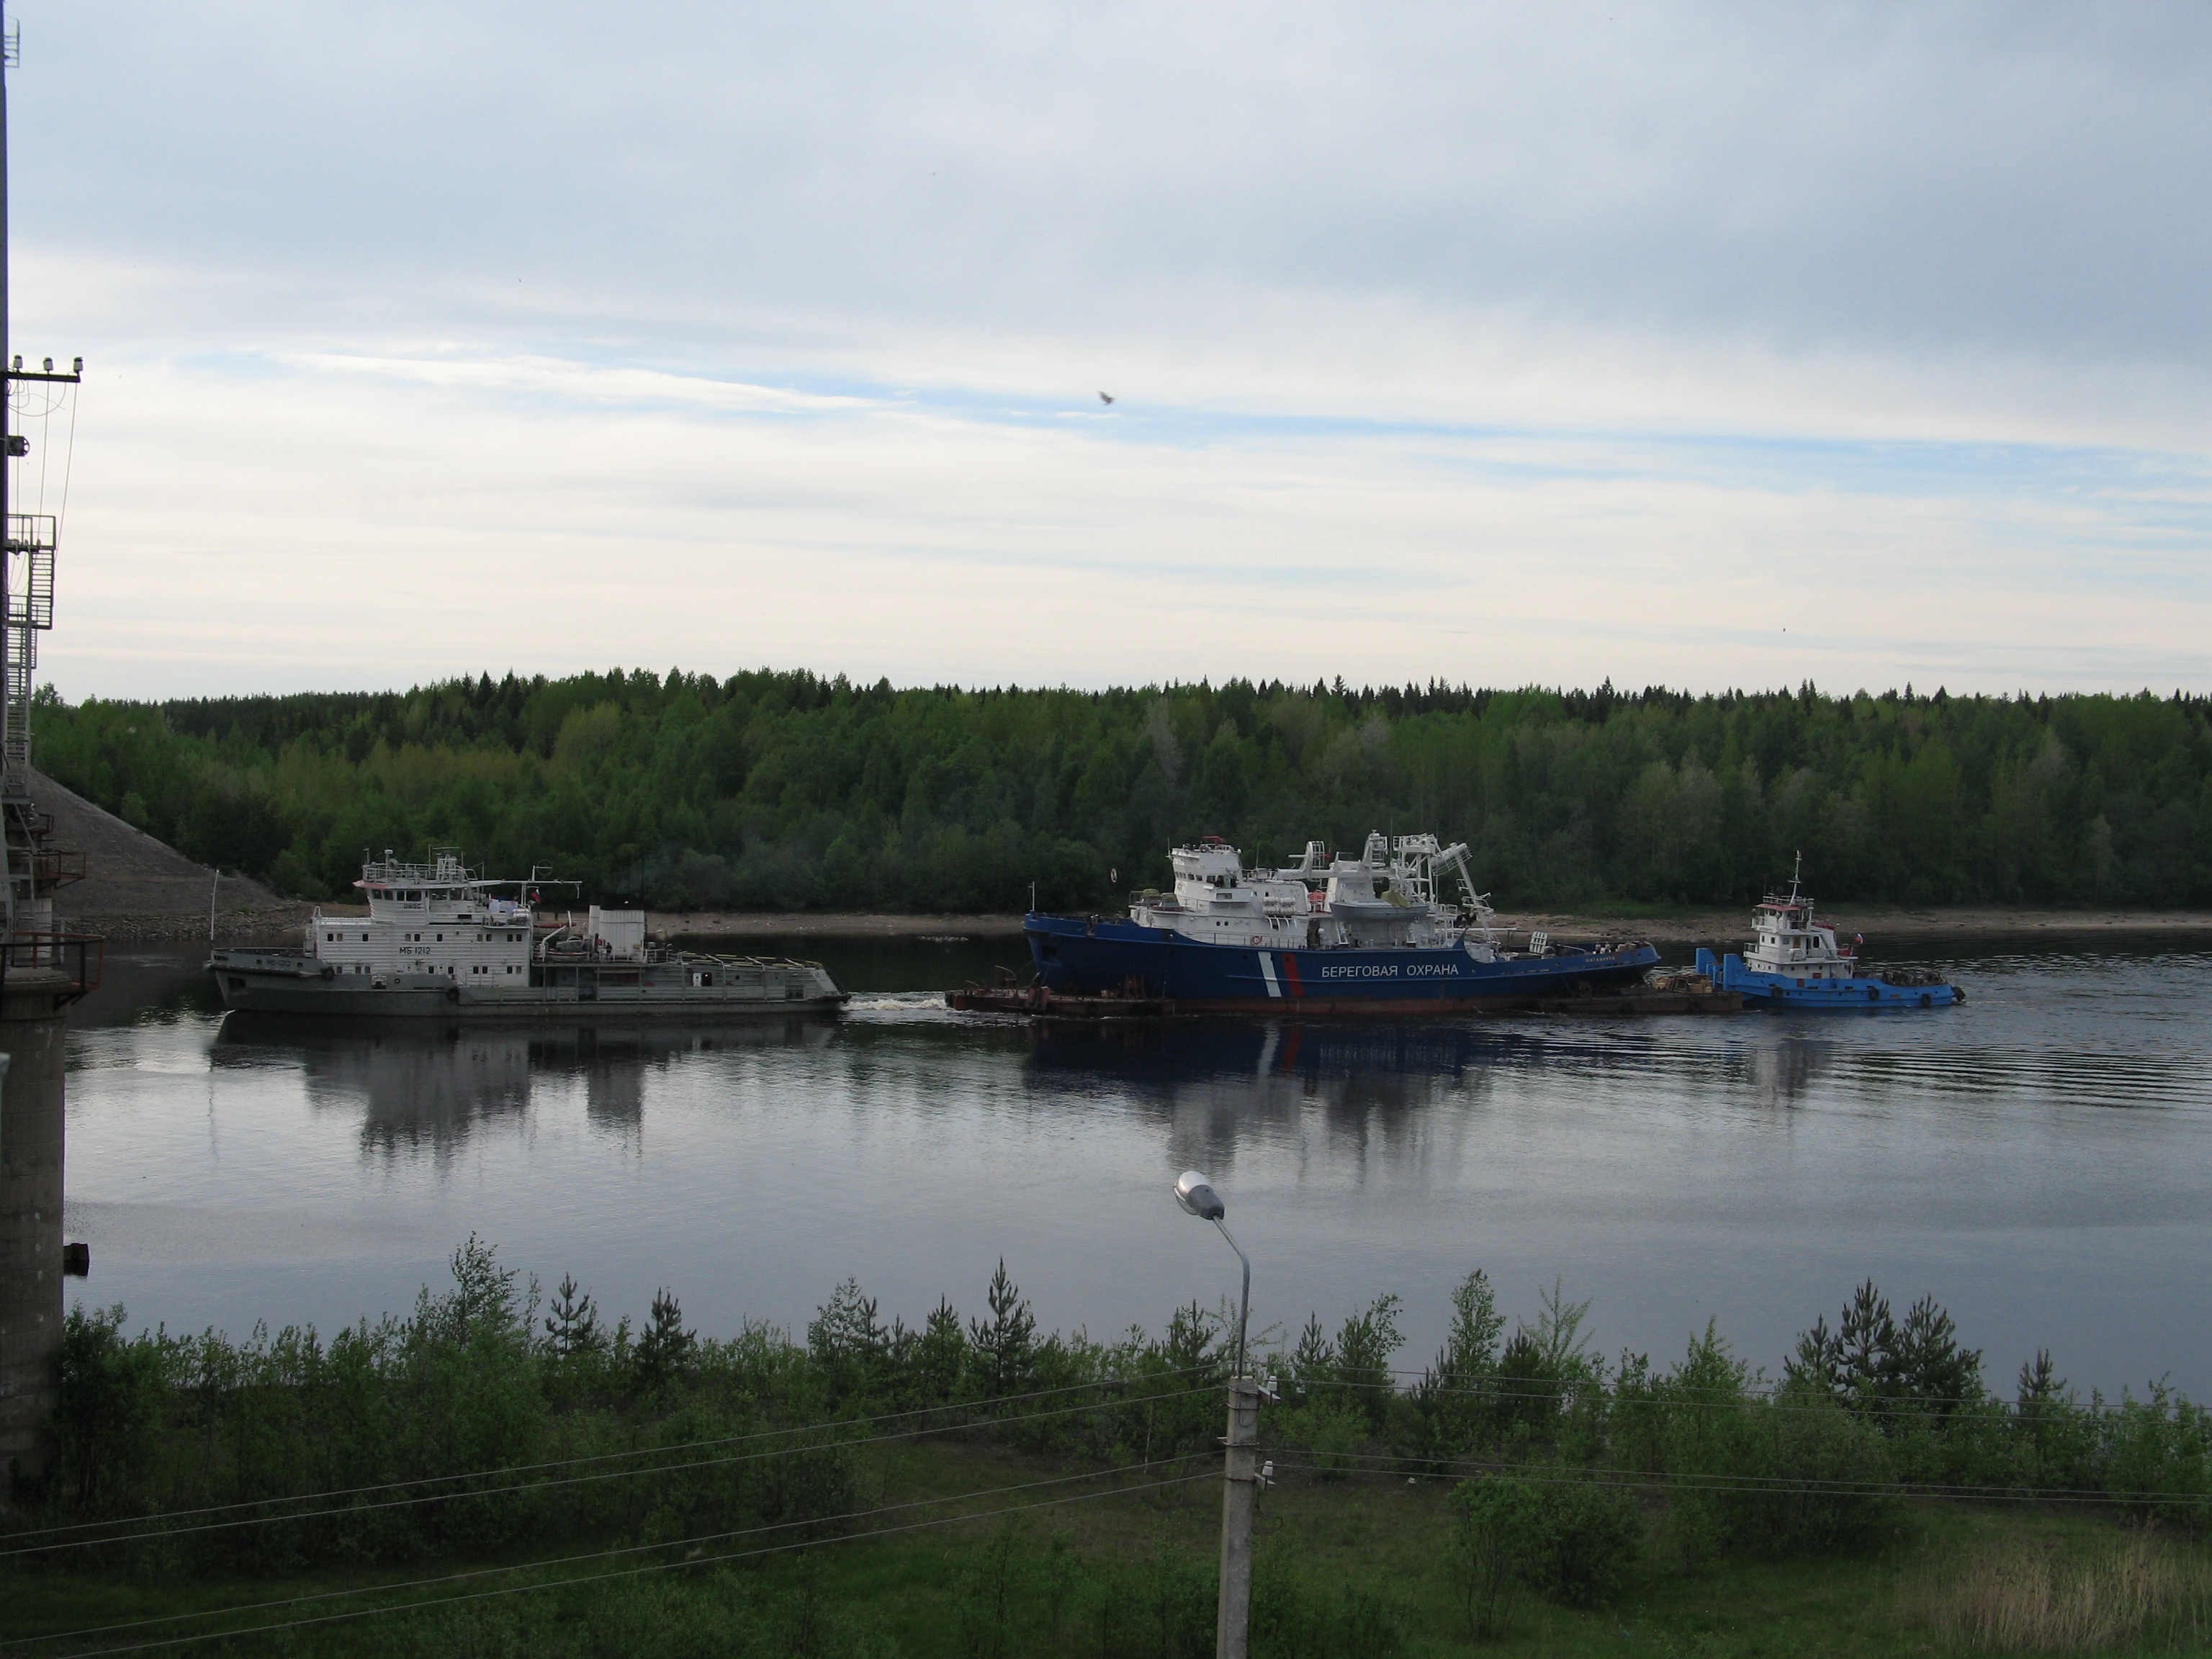
[[[730,909],[1106,907],[1433,830],[1500,905],[2212,902],[2212,699],[1223,686],[896,690],[613,670],[168,703],[40,692],[38,763],[201,863],[336,896],[453,843]]]

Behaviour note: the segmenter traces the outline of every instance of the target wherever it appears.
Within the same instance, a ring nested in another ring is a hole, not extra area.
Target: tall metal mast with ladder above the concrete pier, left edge
[[[46,821],[31,803],[31,688],[38,675],[38,635],[53,626],[53,513],[18,513],[15,465],[31,453],[31,438],[15,431],[15,385],[84,378],[80,356],[69,374],[24,369],[9,338],[9,210],[7,210],[7,71],[22,62],[20,27],[0,31],[0,363],[7,365],[7,416],[0,418],[0,905],[4,933],[51,933],[51,887],[60,874],[46,852]]]

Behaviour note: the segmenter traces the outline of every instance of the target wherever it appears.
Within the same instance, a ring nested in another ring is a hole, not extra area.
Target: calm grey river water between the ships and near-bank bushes
[[[1778,1369],[1874,1276],[2011,1389],[2212,1394],[2212,949],[1933,953],[1958,1011],[1029,1029],[951,1015],[1018,942],[814,942],[838,1022],[332,1029],[223,1020],[197,947],[108,958],[71,1035],[73,1294],[246,1334],[403,1310],[471,1230],[613,1316],[803,1327],[845,1276],[918,1321],[993,1265],[1044,1325],[1159,1327],[1237,1259],[1254,1329],[1405,1298],[1418,1365],[1475,1265],[1559,1279],[1606,1349],[1721,1332]],[[1686,956],[1686,951],[1670,951]],[[1889,953],[1885,960],[1907,960]]]

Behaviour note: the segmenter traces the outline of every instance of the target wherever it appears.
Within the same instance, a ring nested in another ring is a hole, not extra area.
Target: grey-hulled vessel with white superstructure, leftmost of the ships
[[[354,887],[369,914],[325,916],[316,907],[303,949],[210,951],[223,1004],[261,1013],[690,1020],[845,1004],[818,962],[670,949],[646,938],[639,909],[593,905],[582,925],[540,918],[533,883],[489,880],[451,847],[436,847],[427,865],[387,849],[361,867]]]

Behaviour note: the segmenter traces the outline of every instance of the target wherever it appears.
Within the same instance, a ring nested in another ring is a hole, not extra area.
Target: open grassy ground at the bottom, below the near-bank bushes
[[[1040,1489],[1053,1491],[1044,1482],[1068,1473],[1066,1460],[989,1444],[896,1447],[863,1460],[869,1500],[902,1506],[880,1524],[1037,1502]],[[1009,1486],[1029,1491],[927,1506]],[[1256,1524],[1254,1655],[1907,1659],[2183,1655],[2212,1641],[2212,1555],[2192,1537],[2066,1506],[1938,1500],[1905,1504],[1865,1551],[1717,1562],[1681,1559],[1663,1509],[1646,1504],[1639,1566],[1601,1604],[1515,1590],[1478,1637],[1451,1493],[1453,1482],[1436,1478],[1283,1475],[1263,1493]],[[1219,1482],[1206,1478],[630,1577],[613,1575],[635,1557],[531,1566],[498,1555],[449,1555],[405,1573],[301,1573],[281,1559],[265,1573],[212,1577],[18,1571],[0,1577],[0,1639],[33,1639],[27,1652],[40,1655],[285,1626],[190,1650],[1203,1659],[1217,1537]],[[418,1584],[442,1575],[473,1577]],[[35,1641],[117,1624],[135,1628]]]

